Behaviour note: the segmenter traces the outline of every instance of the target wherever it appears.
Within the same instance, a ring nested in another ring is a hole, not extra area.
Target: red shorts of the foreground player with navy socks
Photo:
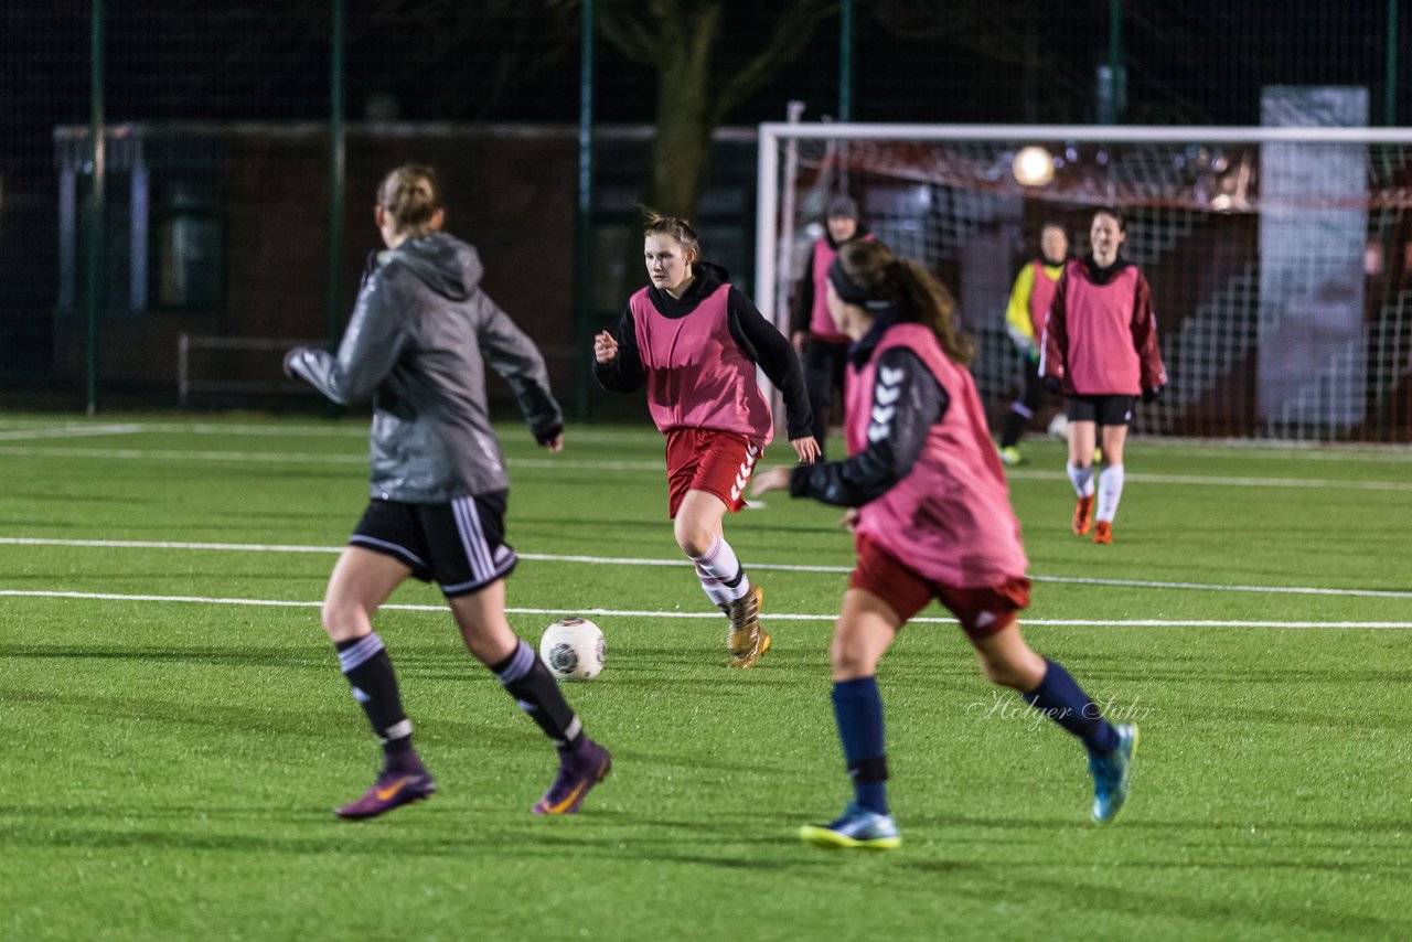
[[[860,534],[856,539],[858,564],[849,576],[850,589],[864,589],[887,602],[902,621],[936,599],[962,623],[973,638],[984,638],[1015,621],[1015,613],[1029,606],[1029,579],[1014,576],[986,589],[959,589],[931,582],[908,569],[887,549]]]

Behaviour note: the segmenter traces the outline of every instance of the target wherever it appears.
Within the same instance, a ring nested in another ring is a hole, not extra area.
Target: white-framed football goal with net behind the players
[[[1082,256],[1111,205],[1171,378],[1134,431],[1412,442],[1412,131],[778,123],[760,140],[755,295],[781,326],[849,193],[956,295],[998,418],[1021,380],[1005,304],[1042,223]]]

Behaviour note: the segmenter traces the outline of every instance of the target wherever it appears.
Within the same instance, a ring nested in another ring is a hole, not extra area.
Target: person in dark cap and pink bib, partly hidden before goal
[[[843,366],[849,356],[849,338],[833,326],[825,304],[827,271],[839,249],[850,242],[873,237],[858,220],[858,205],[849,196],[829,201],[825,225],[825,236],[809,250],[809,260],[789,302],[789,339],[803,364],[809,410],[813,412],[812,432],[819,442],[820,460],[829,432],[829,407],[834,401],[834,393],[843,393]]]

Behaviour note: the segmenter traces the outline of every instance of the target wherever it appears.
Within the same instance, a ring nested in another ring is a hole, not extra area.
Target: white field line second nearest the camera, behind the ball
[[[343,552],[345,547],[306,547],[288,544],[244,544],[244,542],[176,542],[165,539],[61,539],[51,537],[0,537],[0,547],[76,547],[88,549],[205,549],[213,552],[304,552],[332,555]],[[579,562],[600,566],[689,566],[686,559],[662,559],[654,556],[583,556],[539,552],[521,552],[521,559],[535,562]],[[751,562],[751,569],[772,572],[822,572],[847,573],[853,566],[823,566],[786,562]],[[1203,582],[1161,582],[1155,579],[1096,579],[1090,576],[1029,576],[1035,582],[1055,582],[1086,586],[1108,586],[1117,589],[1187,589],[1193,592],[1255,592],[1271,595],[1310,595],[1361,599],[1412,599],[1412,592],[1392,589],[1324,589],[1317,586],[1248,586]]]

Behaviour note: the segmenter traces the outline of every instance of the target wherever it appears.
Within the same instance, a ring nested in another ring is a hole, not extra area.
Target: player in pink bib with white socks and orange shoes
[[[1113,542],[1123,499],[1123,446],[1132,403],[1155,403],[1166,386],[1156,343],[1152,291],[1137,266],[1118,256],[1127,223],[1117,209],[1093,213],[1093,251],[1065,266],[1045,322],[1039,373],[1051,393],[1069,397],[1069,480],[1079,497],[1073,532]],[[1101,427],[1101,441],[1097,429]],[[1093,483],[1093,448],[1103,446],[1103,473]],[[1094,520],[1097,490],[1097,524]]]

